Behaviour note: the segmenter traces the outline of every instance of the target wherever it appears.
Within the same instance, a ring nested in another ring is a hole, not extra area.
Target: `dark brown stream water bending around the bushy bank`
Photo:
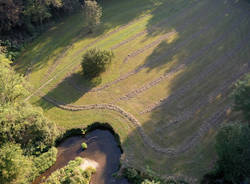
[[[82,150],[81,143],[86,142],[88,148]],[[114,178],[120,164],[121,149],[114,136],[108,130],[94,130],[85,137],[72,136],[65,139],[57,147],[56,163],[39,176],[33,184],[39,184],[42,177],[48,177],[52,172],[67,165],[70,160],[82,157],[98,164],[96,173],[91,177],[91,184],[128,184],[125,178]]]

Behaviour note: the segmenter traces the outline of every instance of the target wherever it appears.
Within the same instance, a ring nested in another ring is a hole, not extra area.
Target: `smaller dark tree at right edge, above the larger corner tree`
[[[235,110],[242,111],[245,119],[250,121],[250,74],[237,82],[234,90]]]

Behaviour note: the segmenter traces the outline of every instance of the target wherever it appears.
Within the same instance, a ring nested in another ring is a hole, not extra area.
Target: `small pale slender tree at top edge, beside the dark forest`
[[[84,13],[89,32],[93,32],[94,28],[101,22],[102,8],[94,0],[85,0]]]

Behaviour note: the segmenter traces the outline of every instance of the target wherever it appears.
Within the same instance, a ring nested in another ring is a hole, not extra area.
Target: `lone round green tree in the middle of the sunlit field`
[[[100,50],[97,48],[88,50],[82,61],[83,74],[91,79],[104,72],[111,63],[114,54],[112,51]]]

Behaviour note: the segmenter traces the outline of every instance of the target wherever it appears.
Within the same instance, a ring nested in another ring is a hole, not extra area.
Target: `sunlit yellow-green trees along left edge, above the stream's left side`
[[[26,154],[40,154],[54,144],[57,128],[41,109],[24,102],[27,84],[9,63],[0,55],[0,145],[11,141]]]

